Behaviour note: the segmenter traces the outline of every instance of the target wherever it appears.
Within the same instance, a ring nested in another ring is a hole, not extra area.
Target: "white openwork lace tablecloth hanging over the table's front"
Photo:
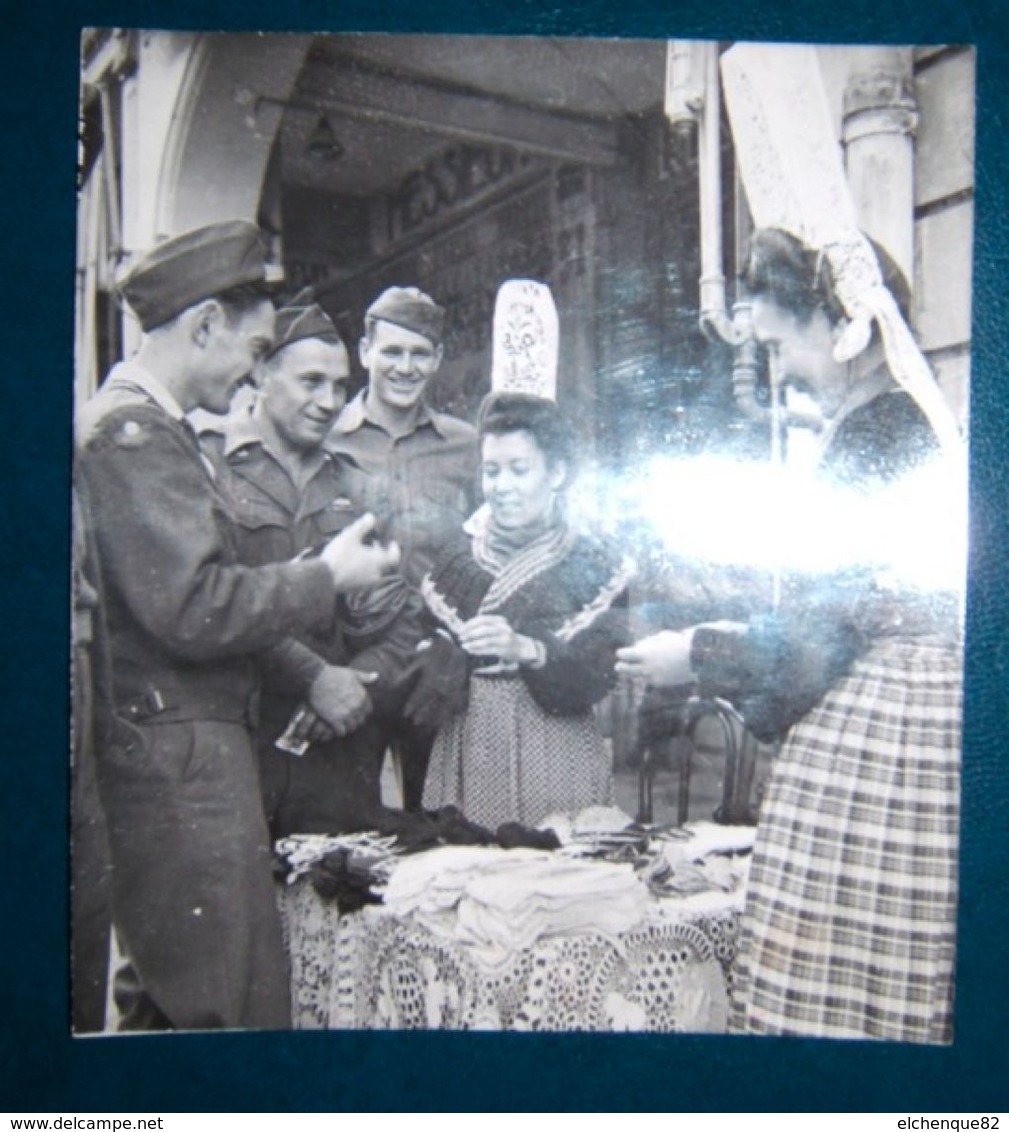
[[[656,901],[617,935],[544,936],[488,964],[382,906],[340,916],[300,880],[282,890],[299,1029],[721,1032],[738,894]]]

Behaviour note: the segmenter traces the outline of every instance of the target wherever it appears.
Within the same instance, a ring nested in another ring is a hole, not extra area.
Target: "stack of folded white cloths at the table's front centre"
[[[630,865],[456,846],[400,861],[384,891],[390,912],[469,945],[489,964],[542,936],[629,932],[649,902]]]

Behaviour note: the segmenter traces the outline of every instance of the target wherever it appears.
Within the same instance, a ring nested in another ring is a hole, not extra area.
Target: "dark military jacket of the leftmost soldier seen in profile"
[[[127,718],[250,720],[253,654],[330,610],[318,561],[240,561],[228,500],[185,417],[118,366],[78,420],[103,571],[117,704]]]

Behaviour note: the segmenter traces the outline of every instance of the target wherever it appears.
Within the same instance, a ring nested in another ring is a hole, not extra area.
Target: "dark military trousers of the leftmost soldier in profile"
[[[290,975],[253,739],[148,721],[103,752],[122,1029],[288,1029]]]

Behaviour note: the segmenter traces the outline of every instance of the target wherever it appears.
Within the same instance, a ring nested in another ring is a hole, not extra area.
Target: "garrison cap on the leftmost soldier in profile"
[[[119,284],[145,331],[232,288],[270,282],[266,247],[255,224],[221,221],[152,248]]]

